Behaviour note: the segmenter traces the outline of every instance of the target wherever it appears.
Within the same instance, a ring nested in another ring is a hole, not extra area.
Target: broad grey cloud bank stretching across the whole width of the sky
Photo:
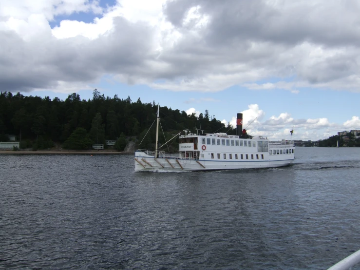
[[[194,23],[184,23],[194,6],[209,18],[195,30]],[[179,82],[220,91],[288,76],[302,85],[336,80],[341,88],[349,76],[360,74],[359,11],[356,0],[172,0],[164,5],[164,14],[181,37],[161,54],[152,45],[155,32],[150,26],[121,17],[114,20],[111,33],[94,40],[56,39],[49,32],[25,42],[14,32],[0,31],[0,89],[91,83],[104,74],[127,83],[164,80],[170,90]],[[323,53],[310,55],[316,48]],[[359,89],[356,79],[351,81]]]

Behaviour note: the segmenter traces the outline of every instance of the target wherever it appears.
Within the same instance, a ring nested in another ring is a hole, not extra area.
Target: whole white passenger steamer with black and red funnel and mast
[[[261,136],[246,138],[243,115],[237,114],[237,135],[226,133],[179,136],[179,154],[171,156],[158,150],[159,107],[155,151],[136,150],[138,171],[210,171],[287,166],[294,161],[294,141],[269,141]]]

